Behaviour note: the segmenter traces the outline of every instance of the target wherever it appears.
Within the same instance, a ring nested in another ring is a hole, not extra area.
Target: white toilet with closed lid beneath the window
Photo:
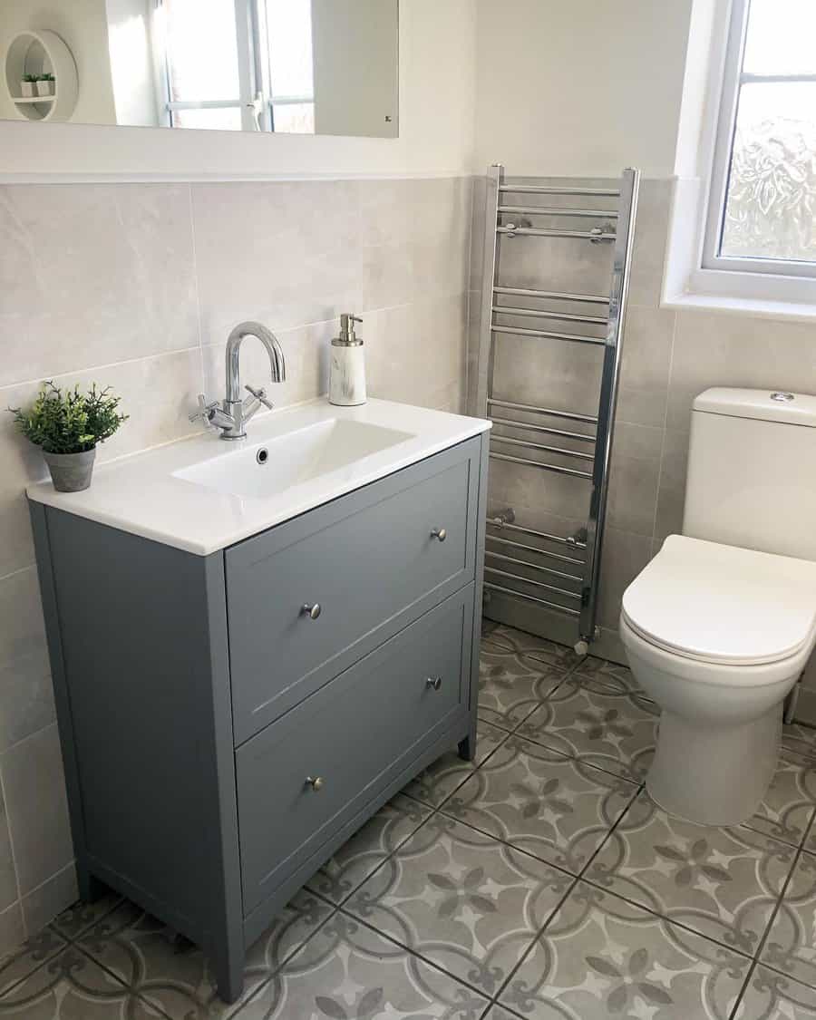
[[[773,777],[782,702],[816,644],[816,397],[697,398],[682,531],[621,607],[631,671],[662,709],[646,784],[672,814],[735,825]]]

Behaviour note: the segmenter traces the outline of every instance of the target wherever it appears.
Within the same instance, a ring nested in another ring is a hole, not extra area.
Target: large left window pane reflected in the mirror
[[[164,0],[173,102],[238,99],[241,95],[235,0],[206,0],[205,6],[202,13],[201,0]]]

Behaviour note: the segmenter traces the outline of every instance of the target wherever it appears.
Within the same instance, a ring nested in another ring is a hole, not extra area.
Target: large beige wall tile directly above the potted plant
[[[198,343],[187,185],[0,189],[0,386]]]

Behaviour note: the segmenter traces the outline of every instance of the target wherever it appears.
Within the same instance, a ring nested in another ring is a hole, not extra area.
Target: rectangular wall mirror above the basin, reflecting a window
[[[0,117],[396,138],[398,0],[0,0]]]

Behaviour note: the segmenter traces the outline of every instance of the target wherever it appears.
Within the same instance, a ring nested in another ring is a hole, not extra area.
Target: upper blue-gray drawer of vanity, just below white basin
[[[479,449],[446,450],[226,551],[236,745],[473,579]]]

